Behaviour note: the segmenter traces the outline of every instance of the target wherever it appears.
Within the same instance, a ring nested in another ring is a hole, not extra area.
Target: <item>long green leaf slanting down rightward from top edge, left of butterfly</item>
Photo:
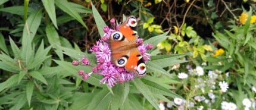
[[[68,15],[79,21],[79,23],[81,23],[86,29],[88,29],[78,12],[73,7],[70,7],[70,3],[68,3],[67,0],[58,0],[55,1],[55,4]]]

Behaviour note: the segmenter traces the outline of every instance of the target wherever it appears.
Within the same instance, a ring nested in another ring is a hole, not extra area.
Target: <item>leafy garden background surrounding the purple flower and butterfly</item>
[[[256,109],[255,3],[2,0],[0,109]],[[92,68],[71,61],[95,65],[88,49],[123,15],[152,43],[150,73],[112,89],[82,81]]]

